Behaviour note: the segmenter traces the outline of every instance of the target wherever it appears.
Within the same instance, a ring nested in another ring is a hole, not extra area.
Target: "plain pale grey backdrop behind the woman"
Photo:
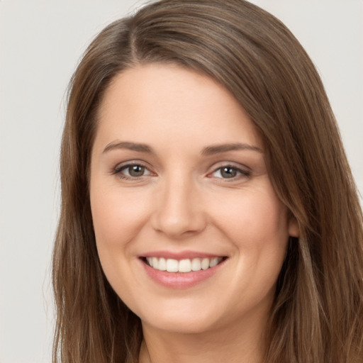
[[[363,1],[253,2],[284,21],[311,55],[363,194]],[[0,0],[0,363],[51,361],[67,82],[94,35],[143,3]]]

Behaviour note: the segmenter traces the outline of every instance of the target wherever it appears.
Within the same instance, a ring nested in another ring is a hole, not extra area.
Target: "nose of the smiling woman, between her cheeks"
[[[194,183],[186,179],[175,179],[164,181],[155,194],[152,226],[169,238],[182,239],[204,230],[207,218]]]

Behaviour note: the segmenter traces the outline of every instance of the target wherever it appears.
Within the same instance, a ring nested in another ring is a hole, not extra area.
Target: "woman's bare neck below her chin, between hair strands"
[[[264,339],[260,326],[236,324],[203,333],[171,333],[143,323],[139,362],[261,363]]]

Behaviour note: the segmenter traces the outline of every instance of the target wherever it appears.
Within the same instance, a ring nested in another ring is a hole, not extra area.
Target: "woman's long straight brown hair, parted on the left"
[[[105,28],[69,86],[62,207],[52,281],[53,362],[137,362],[140,319],[104,277],[89,205],[97,111],[128,67],[169,63],[207,74],[245,108],[269,176],[298,220],[267,327],[269,363],[363,362],[363,228],[350,167],[323,84],[294,35],[243,0],[164,0]]]

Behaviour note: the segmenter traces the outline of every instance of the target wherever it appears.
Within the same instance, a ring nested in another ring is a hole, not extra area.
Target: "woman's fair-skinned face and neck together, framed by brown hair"
[[[137,66],[106,90],[91,211],[106,277],[143,323],[140,363],[260,362],[298,235],[263,149],[240,104],[201,74]]]

